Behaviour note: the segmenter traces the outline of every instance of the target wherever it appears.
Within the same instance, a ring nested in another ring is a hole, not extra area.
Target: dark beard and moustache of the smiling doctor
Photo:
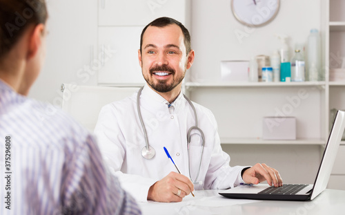
[[[154,75],[153,73],[155,73],[155,71],[168,72],[173,76],[175,75],[175,70],[173,68],[170,68],[169,66],[155,66],[150,68],[150,77]],[[158,83],[155,84],[152,78],[150,79],[149,77],[145,77],[145,75],[144,78],[148,85],[150,85],[151,88],[153,88],[155,91],[159,93],[167,93],[169,91],[172,91],[172,89],[179,85],[182,80],[184,80],[184,75],[182,75],[179,80],[177,80],[177,82],[173,81],[171,84],[166,84],[167,80],[157,80]]]

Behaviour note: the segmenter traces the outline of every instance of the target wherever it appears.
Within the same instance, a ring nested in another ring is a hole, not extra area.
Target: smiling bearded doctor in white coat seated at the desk
[[[194,189],[264,180],[281,186],[278,171],[265,164],[229,166],[213,113],[181,93],[194,57],[189,32],[179,21],[161,17],[144,28],[138,58],[147,83],[131,97],[103,106],[95,127],[110,169],[138,201],[179,202]]]

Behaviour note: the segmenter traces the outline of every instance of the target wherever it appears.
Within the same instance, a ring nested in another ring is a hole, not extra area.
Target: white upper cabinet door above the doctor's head
[[[99,26],[146,26],[158,17],[186,24],[189,0],[99,0]]]

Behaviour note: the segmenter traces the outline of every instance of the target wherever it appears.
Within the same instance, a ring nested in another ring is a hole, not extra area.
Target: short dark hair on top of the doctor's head
[[[145,28],[143,29],[143,31],[141,32],[141,35],[140,35],[140,53],[141,53],[141,46],[143,46],[144,32],[146,31],[148,26],[155,26],[155,27],[163,28],[165,26],[172,25],[172,24],[176,24],[177,26],[179,26],[179,28],[181,28],[182,33],[184,34],[184,46],[186,46],[186,53],[188,55],[190,50],[192,50],[190,48],[190,34],[188,32],[188,29],[186,27],[184,27],[184,25],[181,24],[181,22],[179,22],[175,19],[169,18],[169,17],[157,18],[157,19],[151,21],[150,24],[145,26]]]

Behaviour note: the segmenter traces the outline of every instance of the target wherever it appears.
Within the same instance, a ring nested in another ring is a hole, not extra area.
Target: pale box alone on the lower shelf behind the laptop
[[[262,124],[264,140],[296,140],[296,118],[265,117]]]

